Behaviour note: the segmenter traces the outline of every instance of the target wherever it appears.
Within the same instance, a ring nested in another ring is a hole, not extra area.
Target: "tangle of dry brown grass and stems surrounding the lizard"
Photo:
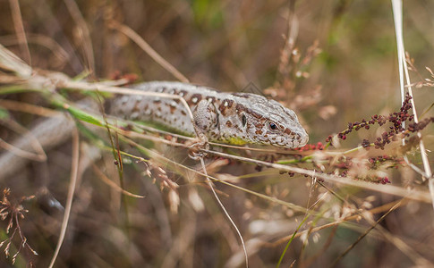
[[[432,266],[434,5],[405,3],[401,69],[399,9],[371,2],[0,3],[0,261]],[[191,160],[194,138],[103,112],[140,80],[264,88],[311,144]]]

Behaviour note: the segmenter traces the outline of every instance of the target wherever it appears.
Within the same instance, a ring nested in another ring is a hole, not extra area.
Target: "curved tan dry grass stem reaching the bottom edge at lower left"
[[[77,129],[72,130],[72,169],[71,169],[71,178],[70,184],[68,188],[68,196],[66,197],[66,205],[64,207],[64,220],[62,222],[62,228],[60,230],[59,239],[57,240],[57,245],[55,246],[55,253],[51,259],[49,264],[49,268],[52,268],[55,265],[55,259],[59,254],[60,247],[64,242],[64,235],[66,233],[66,228],[68,227],[68,220],[71,214],[72,207],[72,198],[75,192],[75,184],[77,181],[77,175],[79,170],[79,160],[80,160],[80,138],[79,132]]]

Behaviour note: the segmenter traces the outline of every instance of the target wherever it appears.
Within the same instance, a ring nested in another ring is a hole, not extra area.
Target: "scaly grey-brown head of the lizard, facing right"
[[[303,147],[309,140],[306,130],[298,121],[293,110],[285,108],[275,100],[254,94],[236,94],[242,105],[236,106],[237,125],[242,134],[234,133],[238,144],[265,144],[277,147]],[[234,141],[230,143],[235,143]]]

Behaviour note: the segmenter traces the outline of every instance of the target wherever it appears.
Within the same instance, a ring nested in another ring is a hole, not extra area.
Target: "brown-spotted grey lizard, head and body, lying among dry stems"
[[[309,136],[294,111],[277,101],[249,93],[223,93],[181,82],[146,82],[131,88],[183,97],[197,129],[210,141],[242,145],[302,147]],[[132,121],[153,121],[194,137],[186,107],[179,99],[124,95],[110,104],[114,115]]]

